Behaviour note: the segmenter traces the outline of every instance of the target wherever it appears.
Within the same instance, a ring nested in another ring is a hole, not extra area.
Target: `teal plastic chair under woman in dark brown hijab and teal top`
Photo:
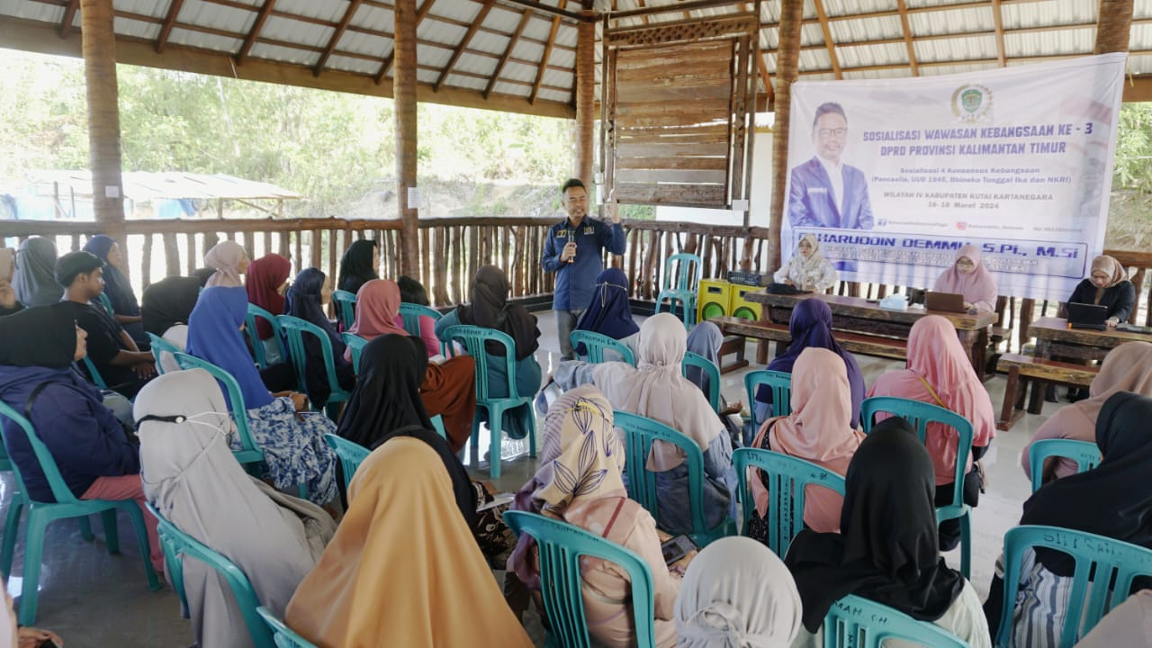
[[[488,430],[492,432],[491,460],[488,461],[488,475],[495,480],[500,477],[500,432],[503,424],[503,413],[513,408],[522,408],[528,423],[528,452],[529,457],[536,457],[536,413],[532,410],[532,398],[536,395],[516,395],[498,398],[488,395],[488,363],[501,362],[498,357],[490,357],[485,348],[486,342],[495,342],[503,346],[503,360],[506,376],[508,377],[507,393],[516,393],[516,342],[511,337],[501,331],[493,331],[483,326],[469,326],[457,324],[448,326],[444,331],[440,340],[442,344],[458,341],[463,345],[468,355],[476,361],[476,416],[472,419],[472,466],[479,465],[479,442],[480,442],[480,408],[487,410]]]

